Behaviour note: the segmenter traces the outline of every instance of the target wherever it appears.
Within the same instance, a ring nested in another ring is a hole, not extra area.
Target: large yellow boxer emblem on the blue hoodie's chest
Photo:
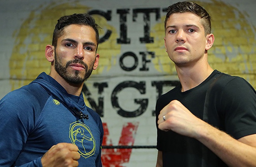
[[[95,153],[96,142],[93,134],[90,128],[81,121],[70,124],[69,138],[78,147],[78,153],[82,157],[88,158]]]

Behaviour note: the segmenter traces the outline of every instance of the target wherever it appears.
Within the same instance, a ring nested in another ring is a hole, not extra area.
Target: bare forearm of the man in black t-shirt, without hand
[[[202,144],[212,150],[230,167],[256,167],[256,148],[206,124],[197,136]]]

